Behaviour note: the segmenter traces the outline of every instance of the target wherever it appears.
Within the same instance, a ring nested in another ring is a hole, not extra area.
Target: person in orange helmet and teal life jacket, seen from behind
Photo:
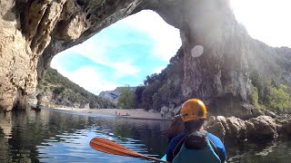
[[[168,162],[226,162],[223,142],[203,129],[206,113],[206,105],[198,99],[191,99],[182,105],[185,131],[170,141],[166,150]]]

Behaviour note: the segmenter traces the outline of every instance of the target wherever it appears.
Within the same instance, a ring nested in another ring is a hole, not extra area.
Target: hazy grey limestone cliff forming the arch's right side
[[[138,9],[145,8],[180,29],[184,101],[199,98],[215,115],[248,119],[256,112],[254,94],[264,103],[265,82],[291,86],[290,49],[273,48],[251,38],[236,22],[228,1],[143,1]],[[196,45],[204,47],[197,58],[191,55]]]

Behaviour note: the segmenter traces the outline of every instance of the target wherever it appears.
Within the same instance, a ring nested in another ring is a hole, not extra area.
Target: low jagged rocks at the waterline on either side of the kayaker
[[[161,115],[170,118],[177,115],[181,106],[161,108]],[[255,109],[246,106],[241,117],[235,116],[211,116],[206,123],[206,130],[214,133],[217,137],[226,141],[257,141],[273,140],[282,137],[291,136],[291,114],[289,112],[281,113],[270,110]],[[248,118],[247,118],[248,117]]]

